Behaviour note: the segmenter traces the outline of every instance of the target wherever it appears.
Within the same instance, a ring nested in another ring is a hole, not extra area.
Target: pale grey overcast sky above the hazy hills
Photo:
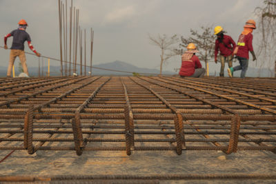
[[[191,28],[199,30],[201,25],[221,25],[237,41],[244,23],[255,19],[253,12],[261,5],[262,0],[73,1],[73,6],[80,10],[81,29],[86,28],[87,34],[90,28],[95,31],[94,64],[119,60],[156,69],[159,69],[160,50],[150,45],[148,34],[188,36]],[[57,0],[0,0],[0,17],[2,41],[6,34],[17,28],[19,19],[26,19],[34,48],[44,56],[59,59]],[[11,43],[12,37],[8,39],[9,47]],[[31,52],[27,44],[25,50]],[[8,66],[9,53],[0,48],[1,66]],[[179,68],[180,60],[180,57],[170,59],[164,70]],[[27,55],[27,63],[37,65],[37,58]],[[51,63],[59,65],[58,61]]]

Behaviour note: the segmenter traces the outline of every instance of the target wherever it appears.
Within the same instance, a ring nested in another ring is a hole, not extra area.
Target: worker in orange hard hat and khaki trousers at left
[[[29,76],[28,68],[27,68],[27,64],[26,64],[26,56],[25,56],[25,52],[24,52],[24,42],[25,41],[28,42],[28,46],[29,46],[30,50],[32,50],[32,52],[34,52],[34,54],[36,54],[37,57],[40,57],[40,55],[41,55],[41,54],[39,54],[39,52],[34,50],[34,47],[32,46],[32,44],[30,42],[31,41],[30,35],[26,32],[28,23],[24,19],[21,19],[18,24],[19,24],[19,28],[17,30],[13,30],[12,32],[7,34],[6,37],[4,38],[4,43],[5,43],[4,48],[8,49],[7,39],[8,39],[8,37],[13,37],[12,47],[10,48],[11,49],[10,50],[10,61],[9,61],[9,65],[8,65],[7,77],[10,77],[10,74],[12,72],[12,66],[14,64],[14,60],[16,59],[16,57],[19,57],[19,59],[21,61],[23,72]]]

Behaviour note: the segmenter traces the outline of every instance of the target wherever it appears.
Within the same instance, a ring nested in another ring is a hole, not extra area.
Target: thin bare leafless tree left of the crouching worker
[[[150,39],[150,44],[156,45],[161,48],[160,54],[160,75],[162,74],[163,64],[168,61],[171,57],[175,56],[174,45],[179,41],[177,35],[173,35],[172,37],[168,37],[166,34],[162,36],[158,35],[158,37],[152,37],[148,34],[148,39]]]

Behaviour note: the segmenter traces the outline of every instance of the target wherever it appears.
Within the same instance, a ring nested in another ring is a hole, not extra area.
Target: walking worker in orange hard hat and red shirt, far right
[[[233,76],[233,72],[237,70],[242,70],[241,78],[246,76],[246,70],[248,68],[248,59],[249,52],[252,54],[253,61],[256,60],[255,52],[253,50],[253,30],[256,29],[256,23],[254,20],[250,19],[246,21],[246,25],[244,25],[244,30],[242,34],[239,35],[239,40],[237,41],[237,47],[235,48],[233,54],[237,56],[239,60],[239,65],[228,68],[228,74],[230,77]]]

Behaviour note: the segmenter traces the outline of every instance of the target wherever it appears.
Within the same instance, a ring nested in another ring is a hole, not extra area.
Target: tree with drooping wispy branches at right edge
[[[255,9],[255,14],[259,17],[257,33],[261,37],[261,40],[258,41],[258,54],[262,56],[259,68],[261,69],[265,64],[267,64],[268,68],[271,68],[274,63],[274,75],[276,77],[276,0],[265,0],[263,7]],[[270,72],[273,75],[273,70],[270,70]]]

